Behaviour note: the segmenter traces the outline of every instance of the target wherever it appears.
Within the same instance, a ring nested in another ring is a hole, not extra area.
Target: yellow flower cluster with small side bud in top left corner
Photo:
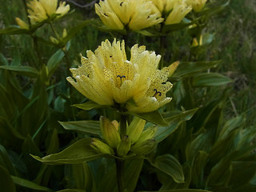
[[[58,6],[58,0],[33,0],[28,2],[27,6],[29,8],[28,17],[32,26],[53,18],[55,14],[58,14],[56,18],[61,18],[70,10],[70,5],[66,5],[66,2],[60,2]],[[23,22],[20,18],[16,18],[16,22],[22,29],[29,29],[26,22]]]

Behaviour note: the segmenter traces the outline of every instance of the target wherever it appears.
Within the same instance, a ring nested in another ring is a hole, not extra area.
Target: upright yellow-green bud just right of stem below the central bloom
[[[132,122],[127,128],[127,134],[129,135],[131,143],[137,142],[138,138],[142,134],[142,130],[144,129],[146,121],[142,118],[137,118],[134,116]]]

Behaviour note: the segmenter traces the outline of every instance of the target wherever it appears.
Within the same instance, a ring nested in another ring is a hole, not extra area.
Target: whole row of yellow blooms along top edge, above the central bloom
[[[114,30],[142,30],[160,22],[181,22],[192,9],[202,10],[207,0],[104,0],[95,3],[102,22]]]

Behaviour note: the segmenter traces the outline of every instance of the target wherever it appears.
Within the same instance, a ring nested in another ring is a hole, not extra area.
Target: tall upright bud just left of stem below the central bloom
[[[107,144],[112,148],[116,148],[121,141],[120,135],[116,127],[110,122],[110,119],[106,117],[100,118],[100,125],[102,130],[102,136],[106,140]]]

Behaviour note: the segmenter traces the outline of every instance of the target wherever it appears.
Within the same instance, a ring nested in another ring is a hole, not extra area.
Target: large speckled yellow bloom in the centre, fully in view
[[[118,107],[136,113],[157,110],[170,102],[166,97],[172,84],[167,82],[173,66],[158,69],[161,56],[134,45],[130,61],[126,58],[125,42],[106,40],[95,54],[87,51],[82,66],[70,69],[69,81],[86,98],[101,105]],[[75,81],[74,81],[75,79]]]

